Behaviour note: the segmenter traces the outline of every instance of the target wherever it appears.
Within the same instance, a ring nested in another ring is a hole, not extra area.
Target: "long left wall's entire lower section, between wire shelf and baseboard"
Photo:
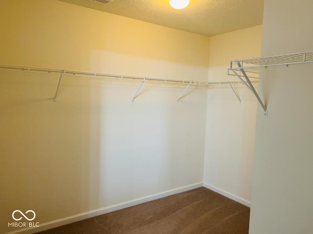
[[[206,90],[0,71],[1,230],[201,182]],[[146,89],[146,90],[145,90]],[[145,92],[149,91],[149,92]]]

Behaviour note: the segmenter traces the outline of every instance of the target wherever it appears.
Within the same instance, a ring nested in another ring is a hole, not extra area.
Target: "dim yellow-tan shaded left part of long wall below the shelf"
[[[1,231],[16,230],[15,210],[44,223],[98,208],[99,93],[75,78],[53,102],[58,76],[0,73]]]

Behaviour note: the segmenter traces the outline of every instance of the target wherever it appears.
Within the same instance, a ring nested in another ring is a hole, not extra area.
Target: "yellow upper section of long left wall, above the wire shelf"
[[[56,0],[2,0],[0,21],[1,64],[207,79],[198,34]]]

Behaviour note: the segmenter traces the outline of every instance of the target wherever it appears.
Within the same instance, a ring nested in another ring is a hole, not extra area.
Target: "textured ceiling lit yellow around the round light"
[[[264,0],[190,0],[182,10],[169,0],[60,0],[188,32],[214,36],[262,24]]]

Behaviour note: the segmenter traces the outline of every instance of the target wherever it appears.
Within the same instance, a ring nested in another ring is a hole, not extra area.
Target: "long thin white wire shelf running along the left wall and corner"
[[[106,74],[106,73],[89,72],[89,71],[22,67],[22,66],[13,66],[13,65],[0,65],[0,70],[57,74],[57,75],[63,75],[63,76],[64,75],[83,76],[83,77],[105,78],[105,79],[114,79],[114,80],[136,80],[136,81],[141,81],[141,82],[145,80],[146,82],[159,82],[159,83],[183,84],[183,85],[188,85],[191,83],[191,85],[193,86],[201,86],[201,87],[210,87],[210,86],[219,86],[219,85],[229,86],[229,84],[243,85],[243,82],[240,82],[240,81],[208,82],[208,81],[197,81],[197,80],[176,80],[176,79],[149,78],[149,77],[140,77],[140,76]],[[258,81],[253,81],[253,83],[258,83]]]

